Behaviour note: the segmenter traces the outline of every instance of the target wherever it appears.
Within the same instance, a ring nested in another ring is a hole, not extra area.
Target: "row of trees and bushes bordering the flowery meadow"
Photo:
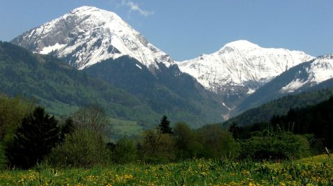
[[[91,167],[114,163],[165,163],[191,158],[289,160],[309,155],[306,137],[283,130],[249,132],[240,138],[222,125],[192,129],[172,125],[167,116],[139,137],[109,141],[111,127],[104,109],[82,107],[67,118],[55,118],[22,98],[0,95],[0,167]]]

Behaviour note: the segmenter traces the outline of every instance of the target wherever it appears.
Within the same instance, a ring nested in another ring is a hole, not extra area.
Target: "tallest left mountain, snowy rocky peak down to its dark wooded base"
[[[87,75],[136,95],[157,114],[193,127],[223,121],[217,95],[179,70],[115,13],[83,6],[13,39],[39,54],[53,54]]]

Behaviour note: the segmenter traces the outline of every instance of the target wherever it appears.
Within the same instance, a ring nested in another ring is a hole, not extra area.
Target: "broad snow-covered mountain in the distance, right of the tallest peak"
[[[238,94],[253,93],[282,72],[311,59],[304,52],[263,48],[247,40],[237,40],[215,53],[177,64],[210,91]]]

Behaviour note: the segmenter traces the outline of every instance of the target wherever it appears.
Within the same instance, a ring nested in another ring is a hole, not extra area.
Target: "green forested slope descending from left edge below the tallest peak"
[[[68,115],[78,107],[98,103],[114,118],[155,124],[159,114],[134,95],[94,79],[49,55],[0,42],[0,91],[36,99],[56,115]]]

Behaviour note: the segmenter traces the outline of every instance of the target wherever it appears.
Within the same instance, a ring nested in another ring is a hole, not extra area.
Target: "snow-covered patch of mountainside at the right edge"
[[[304,63],[295,78],[280,89],[281,93],[291,93],[300,88],[313,86],[333,78],[333,54],[320,56],[310,63]]]

